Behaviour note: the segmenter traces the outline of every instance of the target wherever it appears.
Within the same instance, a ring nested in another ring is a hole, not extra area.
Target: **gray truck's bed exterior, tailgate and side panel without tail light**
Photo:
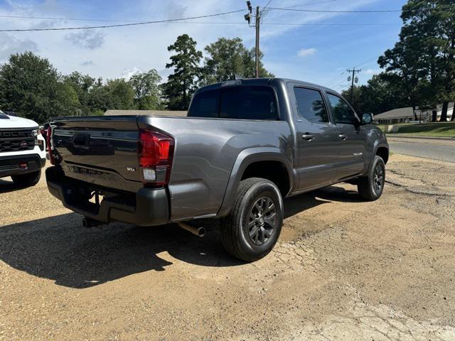
[[[129,193],[139,175],[139,129],[175,139],[168,191],[171,220],[215,216],[235,161],[246,148],[277,148],[292,158],[286,121],[106,116],[53,119],[53,142],[65,177]]]

